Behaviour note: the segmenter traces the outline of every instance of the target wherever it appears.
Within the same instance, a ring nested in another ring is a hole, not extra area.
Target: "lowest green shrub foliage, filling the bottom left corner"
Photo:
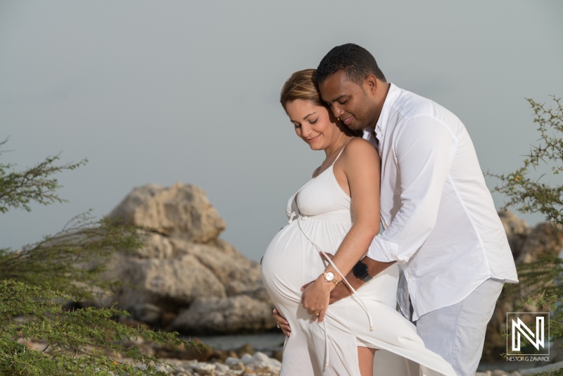
[[[176,333],[130,327],[113,318],[128,315],[115,308],[67,311],[68,294],[4,280],[0,282],[0,371],[11,375],[160,375],[158,358],[143,353],[139,338],[169,346],[193,346]],[[43,349],[24,341],[42,339]],[[125,358],[127,363],[120,360]],[[141,372],[137,363],[147,365]]]

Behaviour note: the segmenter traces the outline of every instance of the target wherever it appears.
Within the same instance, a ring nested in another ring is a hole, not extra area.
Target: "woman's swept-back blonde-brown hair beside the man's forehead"
[[[293,73],[281,88],[279,103],[287,112],[286,104],[296,99],[311,101],[315,106],[324,106],[317,84],[317,70],[304,69]]]

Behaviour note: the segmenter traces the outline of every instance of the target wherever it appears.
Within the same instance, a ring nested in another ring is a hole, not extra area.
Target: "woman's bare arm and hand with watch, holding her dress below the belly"
[[[334,164],[334,175],[345,192],[352,197],[355,223],[344,237],[332,258],[343,275],[352,270],[355,263],[365,255],[369,244],[379,232],[379,156],[374,147],[363,139],[352,139],[341,157]],[[342,280],[332,265],[326,272],[334,272],[339,283]],[[329,296],[336,287],[320,275],[303,291],[303,307],[309,313],[320,313],[322,322],[329,306]],[[313,318],[315,319],[315,318]]]

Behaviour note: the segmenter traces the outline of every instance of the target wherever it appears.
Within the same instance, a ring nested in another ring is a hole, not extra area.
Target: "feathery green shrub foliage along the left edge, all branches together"
[[[56,161],[58,156],[51,156],[21,172],[0,163],[0,213],[10,208],[30,211],[32,201],[65,201],[51,176],[86,160],[64,165]],[[138,339],[199,350],[177,333],[127,326],[116,319],[128,313],[113,307],[64,308],[69,301],[110,289],[114,282],[104,272],[113,254],[143,243],[138,228],[84,213],[40,242],[18,251],[0,249],[0,375],[163,375],[156,368],[161,362],[141,351]],[[32,349],[37,341],[44,344],[42,349]]]

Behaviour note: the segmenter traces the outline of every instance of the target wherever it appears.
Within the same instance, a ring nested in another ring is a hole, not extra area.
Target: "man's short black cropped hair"
[[[363,84],[365,77],[374,75],[378,80],[387,82],[383,72],[377,66],[374,56],[358,44],[348,43],[331,49],[317,68],[317,80],[322,84],[330,75],[339,70],[346,73],[348,80]]]

